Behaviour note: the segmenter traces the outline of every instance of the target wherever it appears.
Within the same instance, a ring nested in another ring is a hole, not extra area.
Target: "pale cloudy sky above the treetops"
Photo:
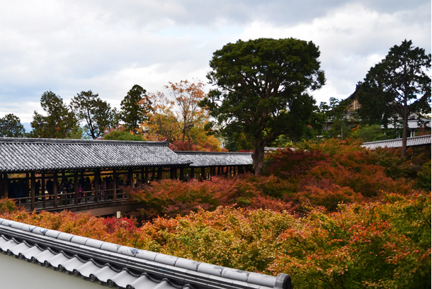
[[[207,81],[215,50],[255,38],[312,40],[326,74],[314,97],[346,98],[404,39],[431,53],[431,1],[1,1],[0,117],[30,122],[48,90],[119,106],[134,84]]]

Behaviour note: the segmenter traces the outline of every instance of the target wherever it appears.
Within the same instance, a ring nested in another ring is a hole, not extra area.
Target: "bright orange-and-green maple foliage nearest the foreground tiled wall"
[[[430,193],[384,200],[339,205],[331,213],[314,208],[301,218],[218,207],[142,227],[71,212],[17,210],[3,217],[220,266],[290,273],[296,288],[430,288]]]

